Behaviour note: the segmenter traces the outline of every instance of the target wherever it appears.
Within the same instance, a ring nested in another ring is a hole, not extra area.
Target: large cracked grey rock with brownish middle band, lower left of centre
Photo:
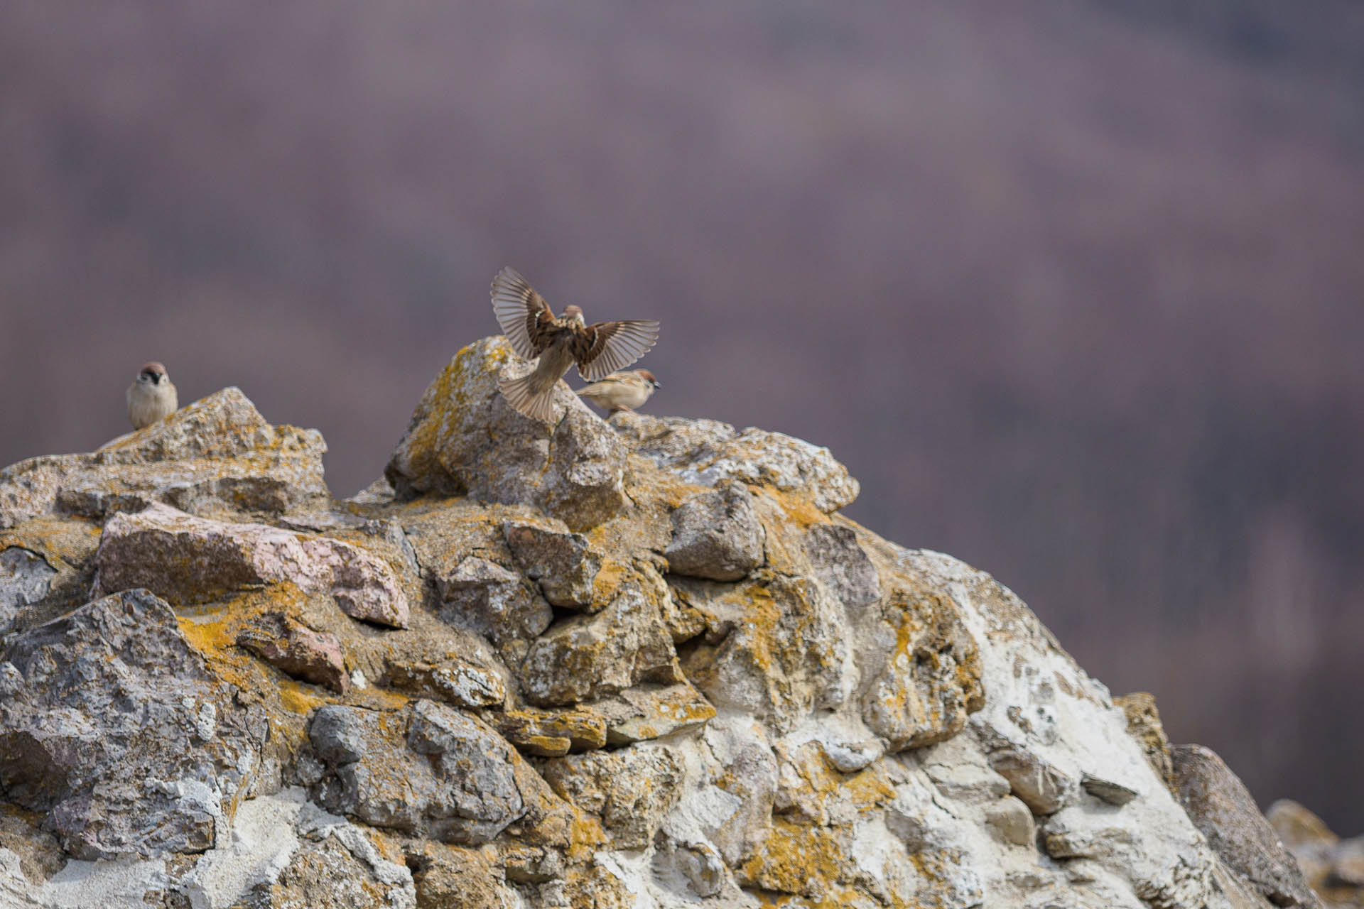
[[[318,784],[329,811],[461,845],[487,842],[525,814],[516,750],[451,707],[327,705],[308,737],[331,771]]]

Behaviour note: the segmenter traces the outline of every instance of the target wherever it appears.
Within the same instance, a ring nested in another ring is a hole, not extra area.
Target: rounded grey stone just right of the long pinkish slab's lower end
[[[537,636],[554,611],[521,575],[495,561],[469,556],[447,575],[436,575],[439,616],[458,628],[488,638],[496,646]]]

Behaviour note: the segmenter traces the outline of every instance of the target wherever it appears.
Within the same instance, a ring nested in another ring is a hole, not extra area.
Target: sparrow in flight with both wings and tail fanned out
[[[544,297],[512,268],[492,279],[492,312],[518,356],[540,358],[529,375],[503,379],[498,387],[518,413],[546,422],[554,421],[554,383],[569,367],[577,364],[580,376],[596,382],[642,357],[659,339],[652,319],[589,326],[577,307],[565,307],[555,319]]]

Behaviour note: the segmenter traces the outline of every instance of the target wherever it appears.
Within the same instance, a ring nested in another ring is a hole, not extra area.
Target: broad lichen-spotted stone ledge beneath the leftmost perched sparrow
[[[183,511],[282,512],[326,496],[314,429],[271,427],[224,388],[100,451],[0,470],[0,527],[63,511],[102,518],[162,502]]]

